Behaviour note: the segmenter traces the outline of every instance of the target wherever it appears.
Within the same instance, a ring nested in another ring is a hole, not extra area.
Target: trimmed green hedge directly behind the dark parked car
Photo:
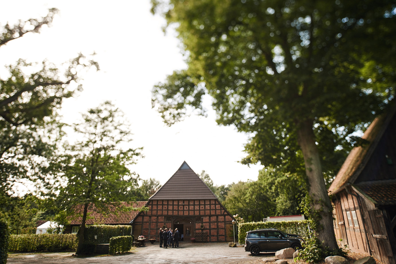
[[[279,222],[249,222],[238,225],[238,243],[245,243],[246,232],[261,228],[276,228],[289,234],[297,234],[302,237],[309,236],[308,226],[311,230],[315,229],[312,220],[279,221]]]

